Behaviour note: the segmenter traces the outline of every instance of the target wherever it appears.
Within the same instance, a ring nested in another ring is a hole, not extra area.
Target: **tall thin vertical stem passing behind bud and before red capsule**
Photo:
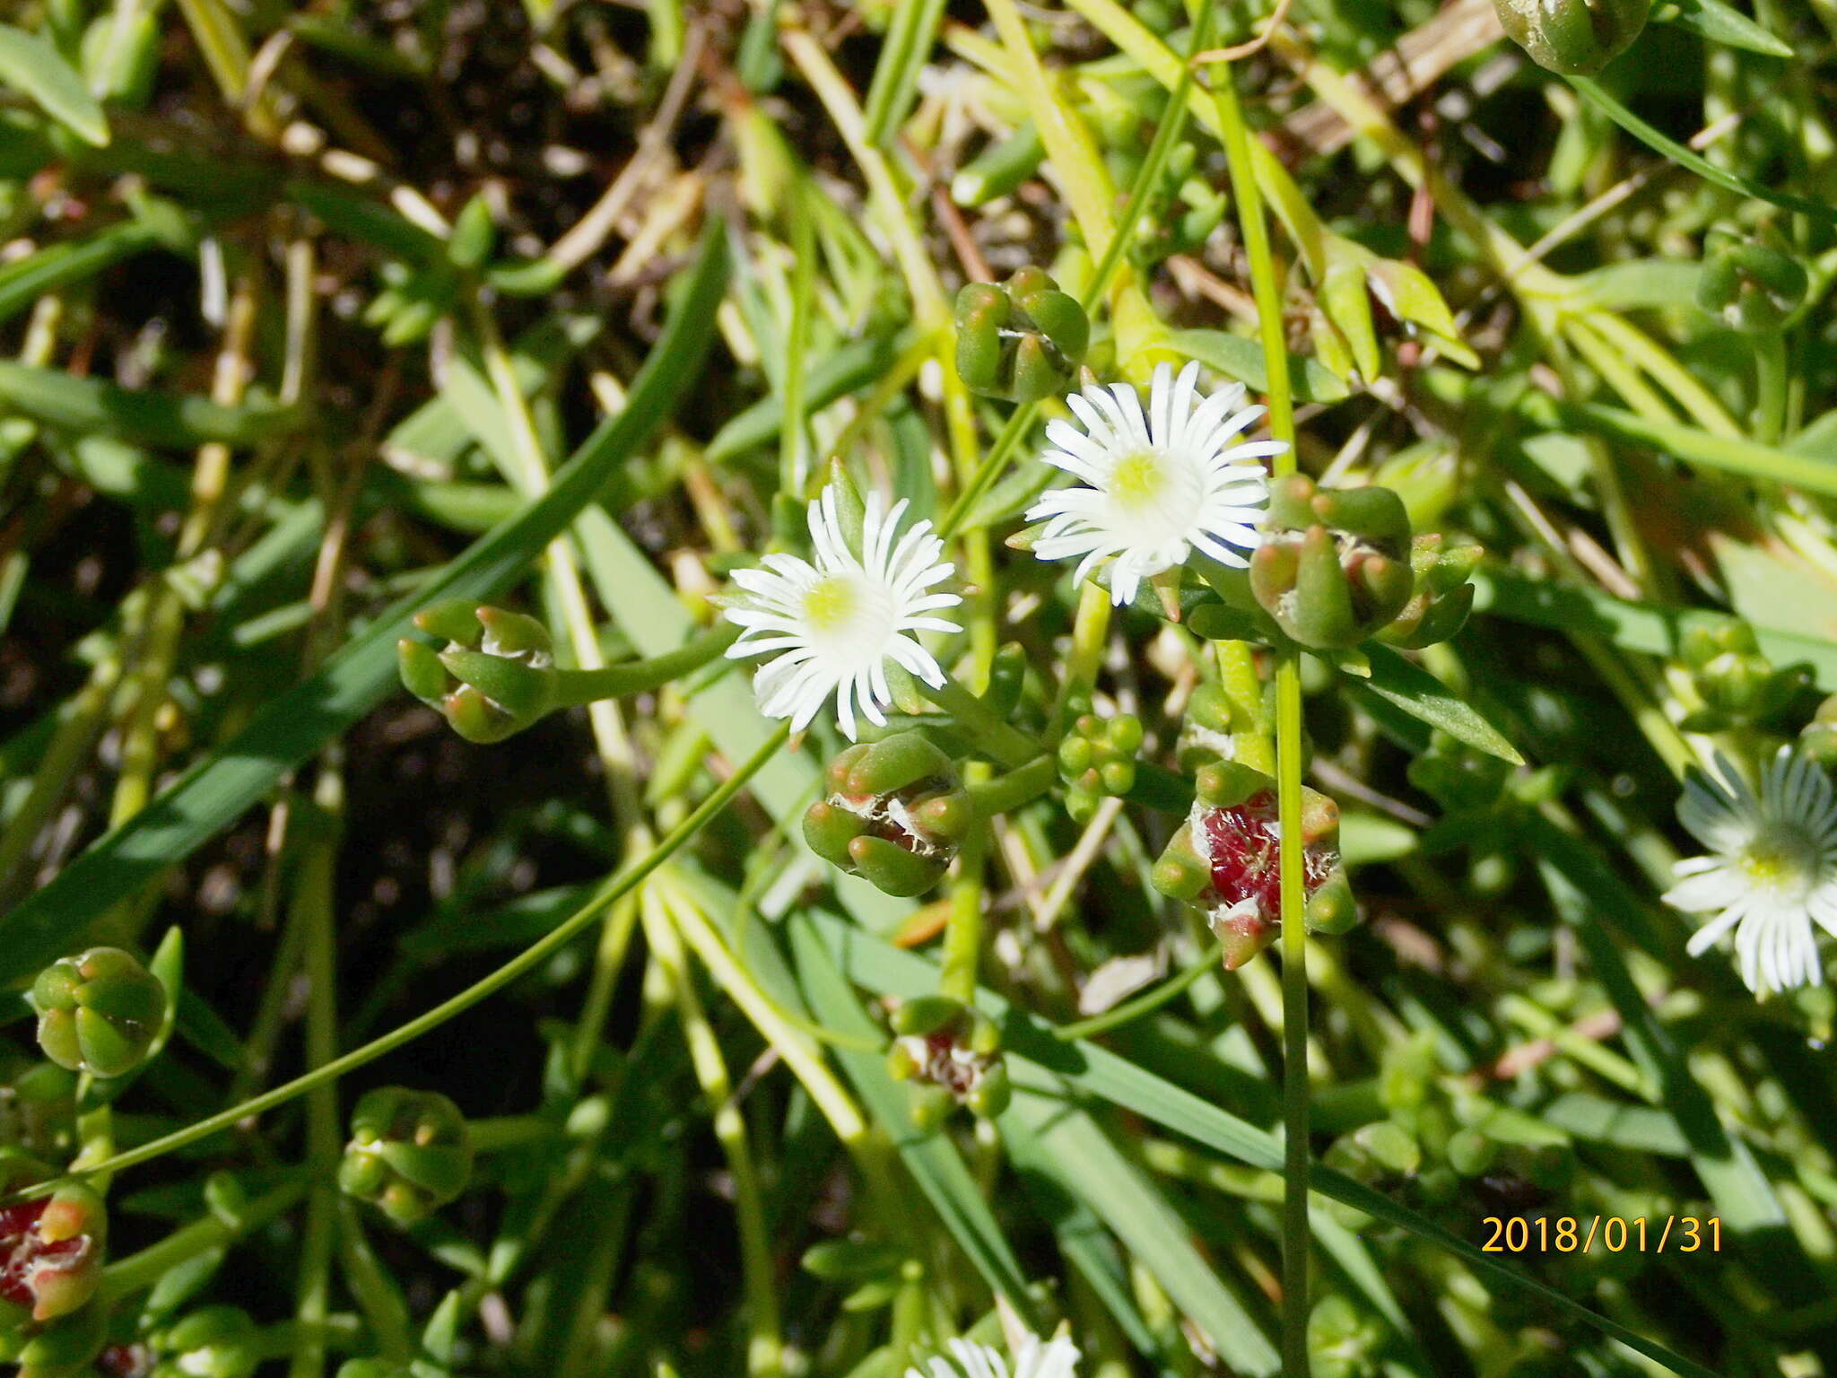
[[[1201,7],[1203,13],[1203,7]],[[1212,85],[1212,107],[1231,165],[1238,224],[1251,265],[1257,325],[1269,371],[1269,432],[1288,448],[1271,461],[1277,478],[1295,472],[1295,402],[1282,340],[1282,294],[1269,250],[1251,136],[1229,68]],[[1308,924],[1301,834],[1301,663],[1286,652],[1275,669],[1277,812],[1282,827],[1282,1372],[1308,1378]]]

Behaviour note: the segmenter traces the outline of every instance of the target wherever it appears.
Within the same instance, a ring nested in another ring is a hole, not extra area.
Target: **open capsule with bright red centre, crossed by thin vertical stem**
[[[1205,911],[1236,970],[1275,941],[1282,922],[1275,781],[1234,761],[1198,772],[1192,812],[1154,865],[1155,889]],[[1343,933],[1358,921],[1339,864],[1339,807],[1302,788],[1302,909],[1308,932]]]

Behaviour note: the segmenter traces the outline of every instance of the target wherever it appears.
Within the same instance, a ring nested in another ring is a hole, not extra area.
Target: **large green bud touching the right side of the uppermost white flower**
[[[1347,650],[1409,603],[1409,514],[1389,489],[1321,489],[1290,474],[1269,487],[1268,525],[1251,592],[1301,645]]]

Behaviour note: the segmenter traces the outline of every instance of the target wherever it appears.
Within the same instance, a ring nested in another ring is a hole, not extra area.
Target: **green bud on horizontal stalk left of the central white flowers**
[[[535,617],[454,599],[415,614],[415,627],[446,649],[402,638],[402,687],[468,742],[502,742],[555,707],[555,649]]]

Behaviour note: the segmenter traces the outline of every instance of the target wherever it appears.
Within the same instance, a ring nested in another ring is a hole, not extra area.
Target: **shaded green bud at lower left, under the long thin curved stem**
[[[411,1226],[465,1191],[472,1135],[459,1106],[439,1091],[382,1086],[351,1112],[351,1143],[338,1185]]]

